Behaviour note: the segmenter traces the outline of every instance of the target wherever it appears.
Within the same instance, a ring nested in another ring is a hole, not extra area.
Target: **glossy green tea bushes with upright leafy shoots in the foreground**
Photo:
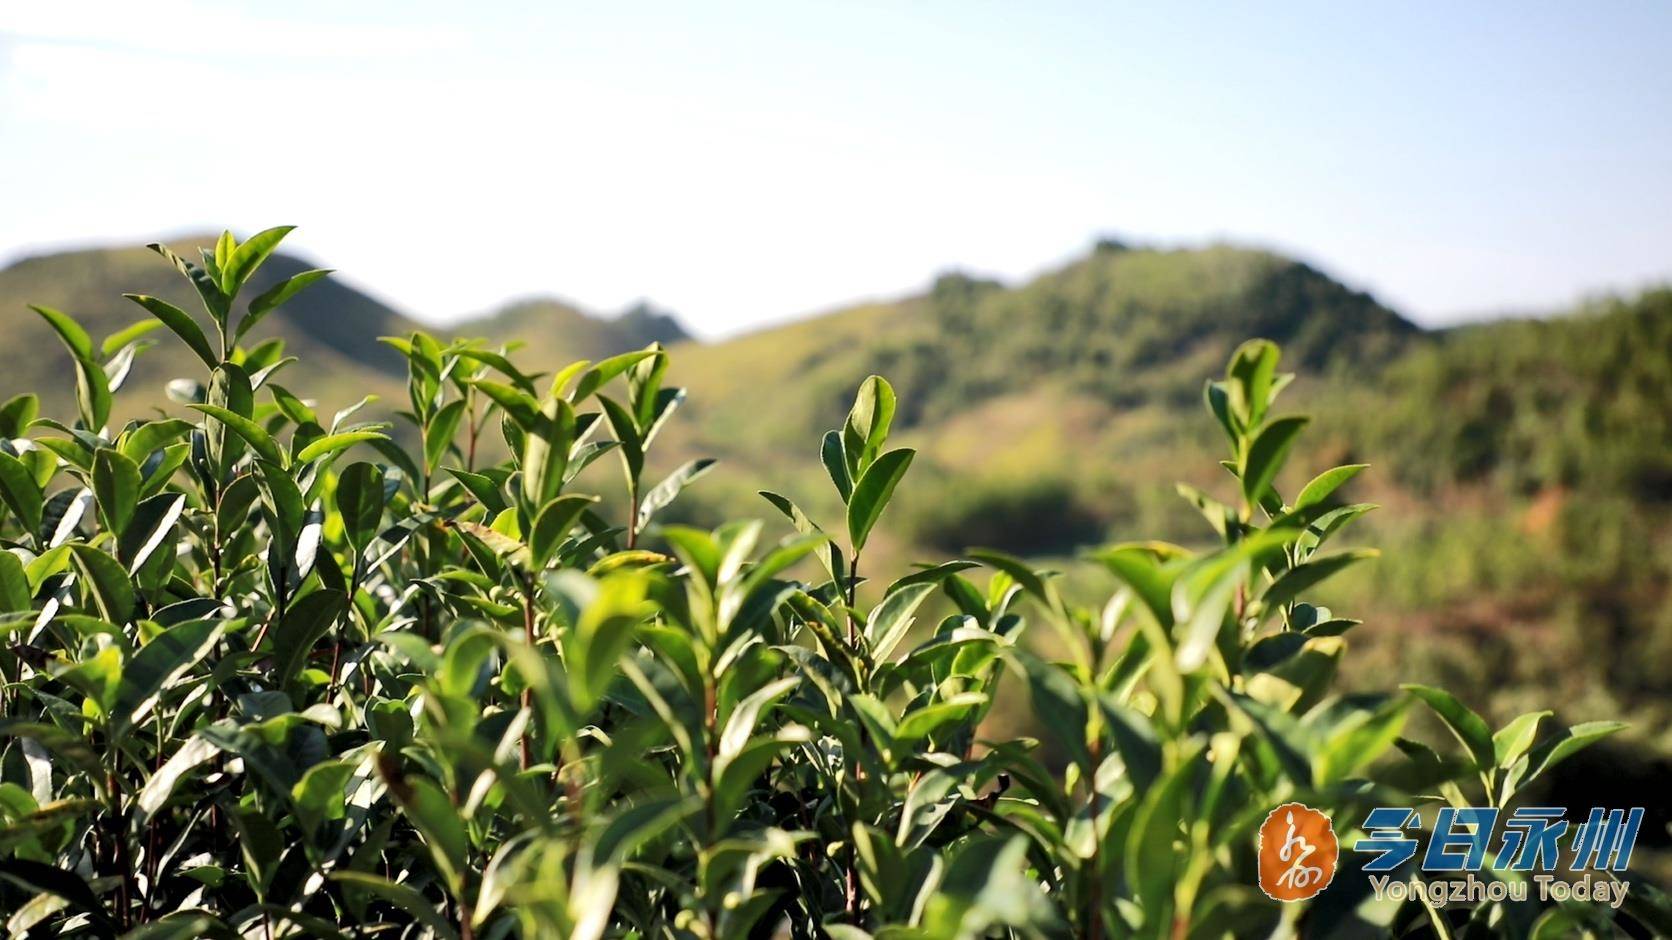
[[[364,401],[328,415],[252,335],[324,273],[239,311],[288,231],[199,261],[155,246],[206,316],[130,296],[150,319],[95,341],[35,309],[79,415],[0,408],[13,935],[1608,930],[1587,905],[1376,902],[1353,871],[1309,903],[1256,888],[1279,803],[1351,845],[1371,806],[1503,806],[1618,728],[1533,713],[1493,733],[1428,687],[1331,696],[1356,621],[1304,597],[1371,554],[1323,550],[1371,507],[1333,498],[1356,465],[1276,492],[1306,420],[1272,413],[1271,343],[1207,386],[1237,497],[1182,493],[1219,549],[1107,547],[1122,589],[1090,607],[981,550],[883,585],[866,547],[913,460],[888,445],[884,380],[823,438],[838,519],[767,492],[782,539],[659,525],[709,470],[645,477],[684,398],[664,350],[543,376],[390,338],[410,428]],[[204,375],[171,385],[177,413],[110,428],[155,326]],[[577,492],[600,460],[622,470],[615,519]],[[918,627],[931,595],[950,612]],[[998,708],[1030,704],[1067,766],[981,736],[1005,674],[1027,701]],[[1418,701],[1460,753],[1401,736]],[[1664,928],[1645,891],[1624,917]]]

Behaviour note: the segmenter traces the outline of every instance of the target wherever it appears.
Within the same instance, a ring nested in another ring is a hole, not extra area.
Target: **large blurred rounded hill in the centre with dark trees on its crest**
[[[1214,442],[1175,418],[1247,336],[1291,350],[1302,401],[1343,368],[1425,343],[1368,294],[1271,253],[1104,244],[1015,288],[950,274],[896,303],[681,350],[672,370],[691,405],[670,433],[742,467],[716,475],[711,498],[799,472],[798,498],[819,505],[816,455],[786,455],[874,371],[900,391],[896,425],[920,448],[916,492],[901,495],[915,542],[1038,554],[1127,530],[1187,537],[1194,512],[1172,482],[1212,468]]]

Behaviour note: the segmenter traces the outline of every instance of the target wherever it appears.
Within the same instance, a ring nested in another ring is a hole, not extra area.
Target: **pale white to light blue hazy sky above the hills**
[[[1672,3],[1254,7],[8,0],[0,261],[291,222],[426,319],[707,335],[1100,232],[1425,323],[1672,278]]]

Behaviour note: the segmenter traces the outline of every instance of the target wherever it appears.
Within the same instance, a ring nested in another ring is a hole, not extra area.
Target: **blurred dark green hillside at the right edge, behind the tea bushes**
[[[1672,753],[1672,291],[1446,333],[1323,423],[1388,482],[1341,590],[1389,612],[1389,661]]]

